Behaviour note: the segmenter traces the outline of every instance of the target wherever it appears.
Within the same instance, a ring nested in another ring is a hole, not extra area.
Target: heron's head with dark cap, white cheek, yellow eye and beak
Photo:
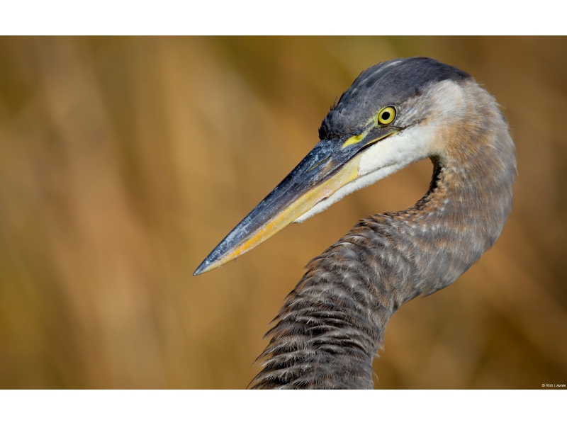
[[[426,57],[366,69],[331,108],[320,142],[195,271],[210,271],[344,196],[444,148],[457,120],[466,72]]]

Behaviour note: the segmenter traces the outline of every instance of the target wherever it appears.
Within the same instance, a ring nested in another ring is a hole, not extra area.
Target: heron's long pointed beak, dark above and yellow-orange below
[[[358,178],[357,153],[398,132],[374,128],[361,135],[321,140],[288,176],[216,246],[193,276],[244,254]]]

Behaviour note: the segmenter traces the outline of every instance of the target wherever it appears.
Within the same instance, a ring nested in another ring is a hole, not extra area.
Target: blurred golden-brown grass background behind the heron
[[[194,278],[359,72],[431,56],[517,145],[504,232],[403,306],[377,388],[567,382],[566,38],[0,38],[0,387],[244,388],[313,256],[413,205],[420,162]]]

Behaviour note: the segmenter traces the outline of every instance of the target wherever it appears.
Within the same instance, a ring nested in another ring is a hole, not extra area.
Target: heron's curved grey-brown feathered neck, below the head
[[[488,112],[503,120],[495,106]],[[432,158],[424,198],[408,210],[361,220],[310,261],[266,334],[264,369],[252,388],[374,386],[372,360],[391,315],[461,276],[504,226],[516,169],[500,124],[485,126],[499,132],[456,127],[450,136],[457,148]],[[476,145],[458,149],[469,140]]]

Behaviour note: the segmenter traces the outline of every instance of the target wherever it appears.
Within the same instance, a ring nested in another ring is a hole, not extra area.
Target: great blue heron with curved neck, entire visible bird
[[[195,274],[291,222],[419,159],[429,191],[371,215],[320,256],[288,295],[253,388],[372,388],[388,319],[461,276],[512,208],[515,147],[495,98],[466,72],[427,57],[366,69],[322,121],[320,142],[213,249]]]

